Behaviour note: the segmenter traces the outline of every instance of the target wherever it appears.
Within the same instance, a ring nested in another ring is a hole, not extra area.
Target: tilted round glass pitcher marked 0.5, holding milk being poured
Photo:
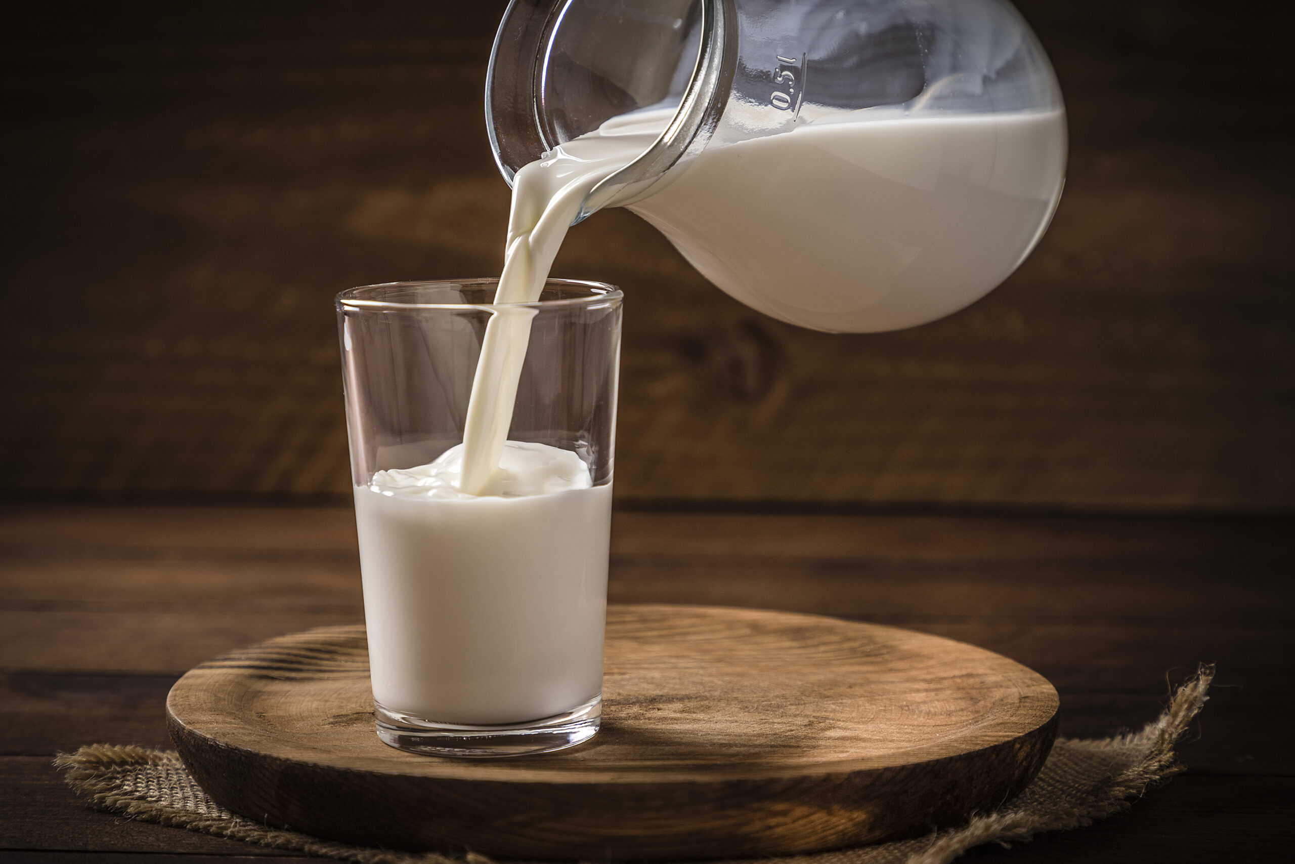
[[[625,206],[738,301],[820,330],[979,299],[1064,181],[1061,89],[1005,0],[513,0],[486,85],[509,184],[649,113],[659,137],[575,222]]]

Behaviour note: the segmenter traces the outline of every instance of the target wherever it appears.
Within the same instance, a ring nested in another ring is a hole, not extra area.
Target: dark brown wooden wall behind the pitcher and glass
[[[25,4],[0,28],[0,487],[348,492],[332,295],[493,275],[502,3]],[[1070,106],[1039,250],[914,330],[825,335],[607,211],[622,505],[1290,512],[1289,4],[1020,4]]]

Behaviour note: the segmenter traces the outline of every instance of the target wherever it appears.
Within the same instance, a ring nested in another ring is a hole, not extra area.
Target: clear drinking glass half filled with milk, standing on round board
[[[337,297],[377,732],[414,753],[544,753],[598,731],[622,294],[549,280],[536,303],[491,306],[497,281]],[[496,315],[531,319],[509,447],[588,487],[392,492],[379,472],[462,442]]]

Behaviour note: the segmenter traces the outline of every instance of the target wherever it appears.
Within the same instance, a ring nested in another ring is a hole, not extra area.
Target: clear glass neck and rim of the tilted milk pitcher
[[[706,148],[737,54],[734,0],[513,0],[486,78],[495,161],[512,185],[523,166],[613,117],[673,108],[655,142],[593,188],[576,222],[631,203]]]

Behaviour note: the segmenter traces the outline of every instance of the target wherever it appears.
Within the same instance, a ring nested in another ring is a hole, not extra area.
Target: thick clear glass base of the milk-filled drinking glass
[[[602,694],[543,720],[504,725],[433,723],[373,703],[378,737],[398,750],[427,756],[492,759],[552,753],[588,741],[602,720]]]

